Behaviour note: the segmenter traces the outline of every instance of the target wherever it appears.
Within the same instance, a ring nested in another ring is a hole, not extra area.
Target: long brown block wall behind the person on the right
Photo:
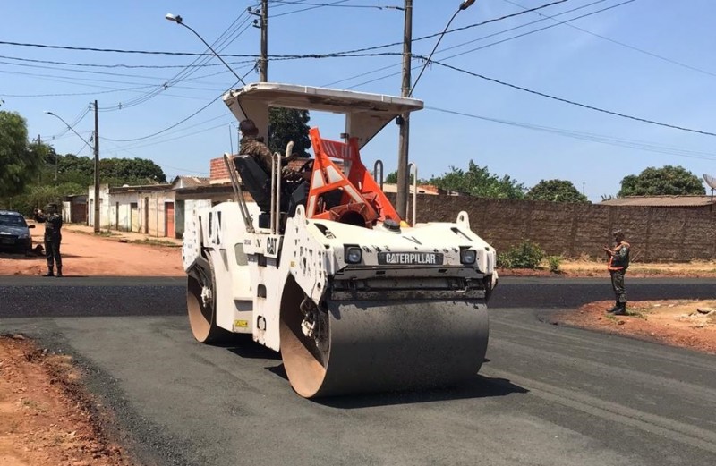
[[[395,195],[388,198],[395,201]],[[473,232],[499,251],[526,239],[550,255],[601,257],[601,247],[619,228],[635,260],[716,258],[716,213],[707,210],[418,196],[418,222],[454,222],[461,210]]]

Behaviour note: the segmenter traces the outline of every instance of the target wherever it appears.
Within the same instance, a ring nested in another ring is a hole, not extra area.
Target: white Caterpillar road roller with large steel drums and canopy
[[[345,133],[324,140],[311,129],[315,157],[298,187],[282,183],[279,154],[270,175],[251,157],[225,155],[234,201],[188,214],[183,235],[194,337],[251,334],[281,352],[307,398],[474,377],[488,343],[495,250],[465,212],[455,223],[416,224],[414,208],[410,223],[399,218],[359,152],[422,101],[267,82],[224,101],[264,137],[272,106],[343,114]]]

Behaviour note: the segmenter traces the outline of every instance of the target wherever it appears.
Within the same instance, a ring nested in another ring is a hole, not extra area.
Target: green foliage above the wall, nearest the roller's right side
[[[428,181],[443,190],[464,191],[473,196],[498,199],[524,199],[524,184],[516,182],[507,174],[501,178],[490,174],[487,167],[481,167],[472,160],[467,170],[450,166],[450,171],[433,176]]]

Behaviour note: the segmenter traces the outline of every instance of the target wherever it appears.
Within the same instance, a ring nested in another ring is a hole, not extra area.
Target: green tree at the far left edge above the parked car
[[[22,192],[42,166],[43,154],[30,150],[25,119],[0,111],[0,197]]]

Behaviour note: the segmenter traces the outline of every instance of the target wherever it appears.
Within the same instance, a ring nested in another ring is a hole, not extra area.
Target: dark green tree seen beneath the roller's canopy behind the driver
[[[311,120],[311,116],[308,114],[308,110],[271,107],[268,114],[270,126],[268,148],[271,149],[271,152],[278,152],[283,156],[286,152],[286,144],[293,140],[294,154],[309,157],[307,152],[311,148],[311,138],[308,136],[309,120]]]

